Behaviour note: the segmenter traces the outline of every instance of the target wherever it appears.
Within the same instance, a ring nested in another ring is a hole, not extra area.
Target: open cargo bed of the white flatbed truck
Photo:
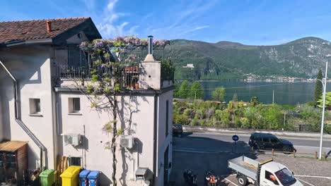
[[[246,156],[240,156],[236,159],[231,159],[228,161],[228,168],[231,168],[233,171],[246,175],[249,178],[252,178],[252,180],[257,180],[258,166],[259,162]]]

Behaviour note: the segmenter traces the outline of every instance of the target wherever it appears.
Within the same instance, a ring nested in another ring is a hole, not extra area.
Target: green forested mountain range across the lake
[[[174,39],[165,52],[175,58],[177,79],[233,79],[248,74],[315,78],[325,68],[331,43],[318,37],[270,46]],[[194,68],[183,68],[187,63]]]

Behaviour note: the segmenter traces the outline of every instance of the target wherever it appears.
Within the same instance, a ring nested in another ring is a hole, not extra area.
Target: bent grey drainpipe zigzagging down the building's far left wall
[[[16,78],[11,74],[11,72],[8,70],[8,68],[6,68],[6,66],[4,65],[4,63],[2,63],[0,61],[1,66],[4,68],[4,70],[6,70],[6,72],[8,73],[8,75],[11,77],[11,79],[13,80],[13,87],[14,87],[14,107],[15,107],[15,120],[16,123],[18,123],[18,125],[21,126],[21,128],[24,130],[24,132],[33,140],[33,142],[35,142],[35,144],[37,144],[37,146],[40,148],[40,168],[42,170],[43,168],[43,152],[45,151],[45,146],[37,139],[37,137],[35,137],[35,135],[33,134],[33,132],[31,132],[31,130],[23,123],[23,121],[21,120],[21,118],[18,117],[19,115],[19,111],[18,111],[18,85],[17,85],[17,80]]]

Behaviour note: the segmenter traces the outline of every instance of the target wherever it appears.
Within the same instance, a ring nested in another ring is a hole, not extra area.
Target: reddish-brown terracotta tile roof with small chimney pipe
[[[49,19],[51,32],[47,33],[47,20],[21,20],[0,22],[0,44],[29,39],[54,38],[91,18]]]

